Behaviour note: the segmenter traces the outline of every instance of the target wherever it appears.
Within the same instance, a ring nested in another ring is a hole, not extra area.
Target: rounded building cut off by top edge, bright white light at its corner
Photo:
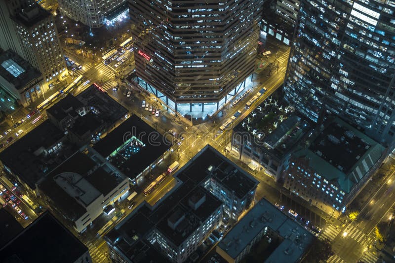
[[[123,8],[122,8],[123,7]],[[89,28],[100,28],[112,23],[114,17],[121,13],[127,15],[125,0],[59,0],[60,12]]]

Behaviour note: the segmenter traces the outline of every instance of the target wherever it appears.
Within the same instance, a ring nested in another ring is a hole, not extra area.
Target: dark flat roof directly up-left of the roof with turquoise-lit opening
[[[114,124],[121,118],[125,118],[125,115],[129,112],[95,84],[90,85],[76,98],[82,102],[87,110],[93,111],[100,116],[101,121],[108,124]]]

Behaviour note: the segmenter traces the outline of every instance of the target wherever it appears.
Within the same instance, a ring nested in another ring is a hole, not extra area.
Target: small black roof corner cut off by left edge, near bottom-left
[[[23,227],[5,208],[0,207],[0,248],[19,234]]]

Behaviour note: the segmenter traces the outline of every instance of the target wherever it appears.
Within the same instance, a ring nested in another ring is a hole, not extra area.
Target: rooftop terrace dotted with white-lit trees
[[[233,136],[248,134],[248,141],[281,159],[310,129],[308,123],[293,112],[285,102],[270,97],[234,128]]]

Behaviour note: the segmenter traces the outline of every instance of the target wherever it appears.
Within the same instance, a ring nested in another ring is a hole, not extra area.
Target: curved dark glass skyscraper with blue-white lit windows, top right
[[[326,110],[387,144],[395,134],[395,1],[301,1],[285,98]]]

